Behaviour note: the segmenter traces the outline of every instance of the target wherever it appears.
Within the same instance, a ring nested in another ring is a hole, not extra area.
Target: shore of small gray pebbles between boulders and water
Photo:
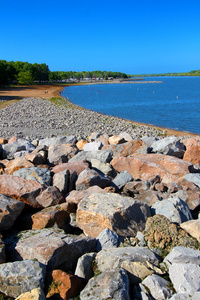
[[[66,100],[67,101],[67,100]],[[145,125],[134,125],[117,117],[78,108],[66,102],[56,106],[48,100],[24,98],[1,110],[0,136],[13,135],[30,139],[58,135],[87,137],[91,132],[119,134],[126,131],[134,139],[142,136],[160,136],[163,131]]]

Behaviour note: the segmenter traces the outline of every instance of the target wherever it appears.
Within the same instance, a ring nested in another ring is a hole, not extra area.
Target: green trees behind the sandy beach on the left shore
[[[0,60],[0,85],[8,84],[33,84],[42,82],[56,82],[68,80],[70,78],[81,79],[108,79],[112,78],[128,78],[129,75],[121,72],[107,72],[107,71],[53,71],[49,70],[48,65],[31,64],[22,61],[6,61]]]

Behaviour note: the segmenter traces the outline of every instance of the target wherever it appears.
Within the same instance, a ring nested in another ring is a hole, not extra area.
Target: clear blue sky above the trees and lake
[[[0,59],[51,71],[200,69],[199,0],[6,0]]]

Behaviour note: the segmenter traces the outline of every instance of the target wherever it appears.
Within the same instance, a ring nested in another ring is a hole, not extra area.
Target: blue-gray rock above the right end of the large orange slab
[[[185,146],[181,140],[174,136],[169,136],[158,140],[151,145],[152,152],[172,155],[178,158],[183,158]]]

